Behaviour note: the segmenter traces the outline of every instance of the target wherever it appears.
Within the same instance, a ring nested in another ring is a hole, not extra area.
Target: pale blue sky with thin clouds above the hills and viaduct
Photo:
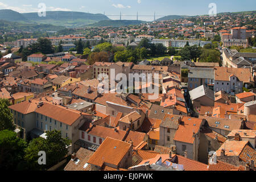
[[[208,14],[209,3],[216,3],[217,13],[256,10],[255,0],[0,0],[0,9],[12,9],[20,13],[37,12],[39,3],[45,3],[47,11],[81,11],[119,15],[122,19],[136,19],[137,11],[141,20],[153,20],[160,15],[202,15]],[[109,16],[119,19],[119,16]]]

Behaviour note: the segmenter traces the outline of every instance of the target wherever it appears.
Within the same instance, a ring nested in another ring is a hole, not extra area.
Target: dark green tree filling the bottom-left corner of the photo
[[[13,131],[0,131],[0,169],[15,170],[23,161],[26,147],[26,141],[18,138]]]

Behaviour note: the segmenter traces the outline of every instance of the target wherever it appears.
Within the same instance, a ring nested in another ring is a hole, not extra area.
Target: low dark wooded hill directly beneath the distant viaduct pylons
[[[91,26],[93,27],[122,27],[122,26],[130,26],[137,25],[141,23],[146,23],[141,20],[102,20],[100,22],[94,23]]]

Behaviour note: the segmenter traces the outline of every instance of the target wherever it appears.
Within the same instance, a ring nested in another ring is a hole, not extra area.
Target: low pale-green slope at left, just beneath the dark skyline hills
[[[32,24],[32,23],[17,23],[7,22],[6,20],[0,20],[0,31],[11,32],[11,31],[59,31],[65,27],[53,26],[51,24]]]

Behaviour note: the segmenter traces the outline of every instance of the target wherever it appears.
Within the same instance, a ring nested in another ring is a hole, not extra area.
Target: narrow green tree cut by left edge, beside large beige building
[[[15,126],[13,123],[13,114],[8,106],[10,101],[7,99],[0,98],[0,131],[1,130],[14,130]]]

